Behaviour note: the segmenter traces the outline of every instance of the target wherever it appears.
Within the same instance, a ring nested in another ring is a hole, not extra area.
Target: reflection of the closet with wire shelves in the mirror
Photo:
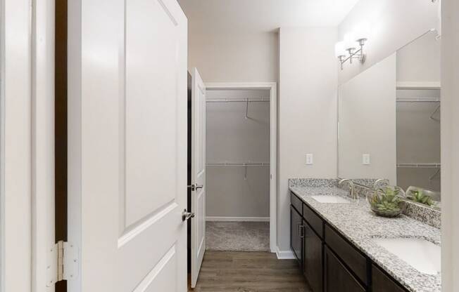
[[[398,89],[396,114],[398,185],[440,192],[440,90]]]

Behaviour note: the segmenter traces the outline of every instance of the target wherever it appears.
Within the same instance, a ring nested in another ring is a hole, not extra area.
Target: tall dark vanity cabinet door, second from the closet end
[[[306,221],[303,221],[303,226],[303,274],[313,292],[322,292],[322,240]]]

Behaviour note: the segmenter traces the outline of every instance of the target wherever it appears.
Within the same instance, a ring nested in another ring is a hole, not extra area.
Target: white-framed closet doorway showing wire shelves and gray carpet
[[[206,246],[275,252],[275,83],[206,84]]]

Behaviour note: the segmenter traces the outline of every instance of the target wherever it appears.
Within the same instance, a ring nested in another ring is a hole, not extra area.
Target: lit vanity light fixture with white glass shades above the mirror
[[[344,41],[339,41],[334,46],[335,56],[338,58],[341,64],[341,70],[345,62],[349,60],[352,64],[352,60],[359,60],[360,63],[365,62],[365,53],[363,53],[363,46],[367,41],[367,34],[363,29],[359,29],[357,32],[348,32],[344,35]]]

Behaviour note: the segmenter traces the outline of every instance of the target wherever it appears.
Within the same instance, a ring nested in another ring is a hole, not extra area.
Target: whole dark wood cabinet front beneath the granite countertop
[[[407,291],[293,192],[290,245],[313,292]]]

